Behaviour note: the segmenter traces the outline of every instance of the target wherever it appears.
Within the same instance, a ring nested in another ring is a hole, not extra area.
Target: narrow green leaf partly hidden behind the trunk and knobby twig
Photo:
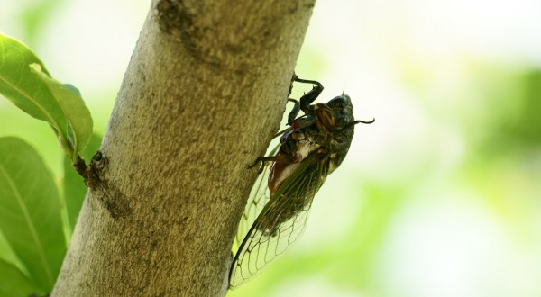
[[[96,150],[101,145],[102,138],[96,134],[92,135],[87,148],[81,153],[88,161],[94,156]],[[69,231],[73,231],[75,223],[78,219],[78,213],[83,206],[85,195],[87,194],[87,186],[85,181],[73,169],[71,162],[64,159],[64,203],[66,204],[66,212],[68,213]]]

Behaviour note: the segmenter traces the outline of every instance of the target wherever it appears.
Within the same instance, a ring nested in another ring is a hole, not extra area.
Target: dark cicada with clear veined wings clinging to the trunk
[[[298,101],[288,99],[295,105],[289,112],[288,128],[276,135],[279,146],[253,165],[261,163],[261,177],[254,184],[235,239],[238,250],[230,270],[231,288],[261,272],[300,237],[314,196],[347,155],[354,126],[374,121],[355,121],[347,94],[312,104],[323,85],[298,76],[293,76],[293,82],[314,86]],[[300,111],[304,114],[298,116]]]

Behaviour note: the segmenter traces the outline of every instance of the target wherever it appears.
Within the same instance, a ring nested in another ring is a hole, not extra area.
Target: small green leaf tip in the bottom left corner
[[[32,293],[45,293],[33,284],[21,270],[0,259],[0,297],[29,296]]]

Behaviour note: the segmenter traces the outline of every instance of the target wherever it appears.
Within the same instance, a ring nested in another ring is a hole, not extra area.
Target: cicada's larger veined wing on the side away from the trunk
[[[328,157],[321,158],[315,151],[272,194],[234,257],[229,279],[231,288],[261,272],[300,237],[328,166]]]

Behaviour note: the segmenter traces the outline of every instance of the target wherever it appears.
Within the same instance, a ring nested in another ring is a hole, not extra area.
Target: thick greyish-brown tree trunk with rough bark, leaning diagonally
[[[225,295],[314,2],[153,1],[53,295]]]

